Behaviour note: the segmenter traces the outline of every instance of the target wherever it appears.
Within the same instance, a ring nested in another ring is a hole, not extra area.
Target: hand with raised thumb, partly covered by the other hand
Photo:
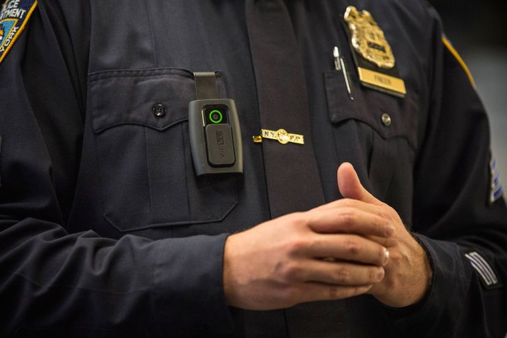
[[[373,285],[368,293],[388,306],[415,304],[428,291],[432,278],[425,251],[406,230],[397,212],[363,188],[356,171],[349,163],[338,168],[337,176],[338,188],[344,199],[320,208],[355,208],[369,214],[369,217],[381,217],[385,224],[395,227],[392,237],[368,237],[384,245],[390,254],[389,263],[384,267],[384,279]]]

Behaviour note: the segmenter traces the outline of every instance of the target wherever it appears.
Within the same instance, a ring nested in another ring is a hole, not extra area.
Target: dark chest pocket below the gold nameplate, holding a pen
[[[359,162],[367,168],[365,175],[374,195],[397,204],[398,201],[389,201],[391,195],[410,196],[412,192],[419,115],[417,97],[410,92],[401,98],[364,88],[355,73],[350,75],[353,100],[349,98],[341,71],[325,73],[327,106],[337,152],[343,160]]]

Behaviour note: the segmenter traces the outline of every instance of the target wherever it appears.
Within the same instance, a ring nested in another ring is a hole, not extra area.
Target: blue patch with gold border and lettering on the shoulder
[[[36,0],[7,0],[0,11],[0,63],[25,29]]]

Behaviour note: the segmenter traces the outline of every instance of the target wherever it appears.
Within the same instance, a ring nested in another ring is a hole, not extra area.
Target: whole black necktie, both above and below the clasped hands
[[[325,202],[315,158],[301,54],[283,0],[247,0],[246,19],[263,129],[303,134],[304,145],[264,139],[269,208],[275,218]],[[285,311],[245,311],[246,337],[342,335],[342,303],[300,304]]]

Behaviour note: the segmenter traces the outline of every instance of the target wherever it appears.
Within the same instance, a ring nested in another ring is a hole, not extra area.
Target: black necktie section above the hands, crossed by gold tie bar
[[[306,82],[283,0],[247,0],[246,18],[263,129],[303,134],[304,145],[264,139],[271,217],[324,203],[315,159]]]

